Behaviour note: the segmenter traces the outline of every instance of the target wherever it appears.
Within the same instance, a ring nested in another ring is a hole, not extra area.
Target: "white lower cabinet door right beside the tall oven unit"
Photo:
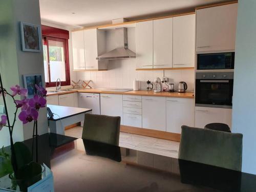
[[[194,99],[166,97],[166,131],[181,134],[181,125],[195,126]]]

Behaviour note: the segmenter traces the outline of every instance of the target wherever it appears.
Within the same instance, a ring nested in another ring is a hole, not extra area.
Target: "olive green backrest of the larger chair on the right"
[[[181,126],[179,159],[241,171],[243,135]]]

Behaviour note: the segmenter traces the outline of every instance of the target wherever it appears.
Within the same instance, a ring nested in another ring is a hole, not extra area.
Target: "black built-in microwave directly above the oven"
[[[197,70],[233,70],[234,52],[197,54]]]

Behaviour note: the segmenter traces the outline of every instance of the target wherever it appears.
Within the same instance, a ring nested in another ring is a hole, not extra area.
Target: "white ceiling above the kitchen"
[[[228,0],[39,0],[41,19],[65,26],[111,23],[115,18],[143,18],[194,10]]]

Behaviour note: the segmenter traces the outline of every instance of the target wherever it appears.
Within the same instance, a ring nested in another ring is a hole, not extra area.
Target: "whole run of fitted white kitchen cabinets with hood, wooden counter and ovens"
[[[123,132],[174,141],[183,124],[231,127],[236,19],[237,3],[228,2],[75,29],[70,57],[78,90],[49,93],[48,103],[120,116]],[[82,87],[88,82],[92,89]]]

